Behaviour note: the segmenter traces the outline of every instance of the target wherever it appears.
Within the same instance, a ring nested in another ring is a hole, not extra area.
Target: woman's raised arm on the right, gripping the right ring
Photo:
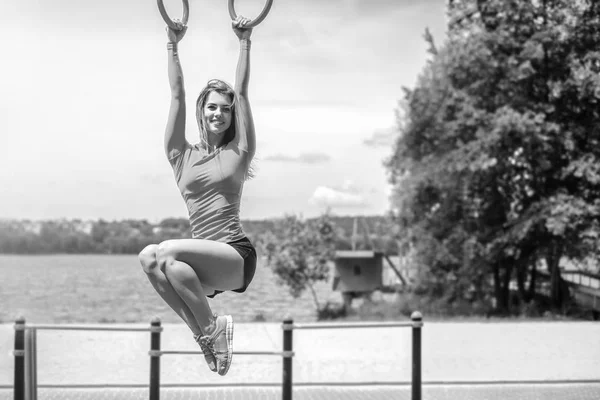
[[[250,20],[239,16],[233,21],[233,31],[240,40],[240,57],[238,59],[237,70],[235,74],[235,92],[238,95],[238,104],[236,112],[239,113],[242,132],[238,132],[240,148],[245,148],[254,156],[256,151],[256,137],[254,134],[254,120],[252,119],[252,110],[248,101],[248,81],[250,80],[250,35],[252,28],[244,28]]]

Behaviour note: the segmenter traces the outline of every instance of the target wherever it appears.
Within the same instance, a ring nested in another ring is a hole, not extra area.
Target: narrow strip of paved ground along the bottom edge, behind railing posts
[[[40,389],[39,400],[147,399],[147,389]],[[410,400],[409,387],[297,387],[294,400]],[[598,400],[600,384],[425,386],[424,400]],[[0,390],[0,400],[12,400],[12,391]],[[281,389],[262,388],[163,388],[163,400],[279,400]]]

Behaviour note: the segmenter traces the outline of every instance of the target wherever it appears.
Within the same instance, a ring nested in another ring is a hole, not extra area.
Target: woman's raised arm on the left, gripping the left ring
[[[167,27],[167,51],[169,85],[171,86],[171,107],[165,129],[165,153],[167,158],[173,158],[181,151],[186,143],[185,139],[185,90],[183,87],[183,70],[179,61],[177,45],[185,35],[187,27],[176,21],[181,27],[179,30]]]

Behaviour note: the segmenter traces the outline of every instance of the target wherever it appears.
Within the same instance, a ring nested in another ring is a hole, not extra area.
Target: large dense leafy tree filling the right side
[[[505,311],[513,274],[525,294],[544,259],[561,307],[560,260],[598,247],[600,6],[455,0],[448,13],[387,163],[401,244],[432,293],[491,290]]]

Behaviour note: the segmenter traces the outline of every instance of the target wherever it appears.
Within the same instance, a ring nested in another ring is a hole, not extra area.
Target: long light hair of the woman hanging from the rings
[[[235,91],[227,83],[219,79],[211,79],[208,81],[204,89],[200,92],[198,100],[196,100],[196,121],[198,122],[198,129],[200,130],[200,147],[207,152],[210,151],[208,145],[208,132],[204,124],[204,105],[206,104],[206,98],[211,92],[217,92],[224,96],[228,96],[231,99],[231,124],[225,131],[223,136],[223,142],[220,147],[226,146],[235,138],[237,126],[239,124],[239,116],[237,114],[237,96]],[[256,166],[254,160],[248,165],[248,171],[246,172],[246,179],[251,179],[255,176]]]

